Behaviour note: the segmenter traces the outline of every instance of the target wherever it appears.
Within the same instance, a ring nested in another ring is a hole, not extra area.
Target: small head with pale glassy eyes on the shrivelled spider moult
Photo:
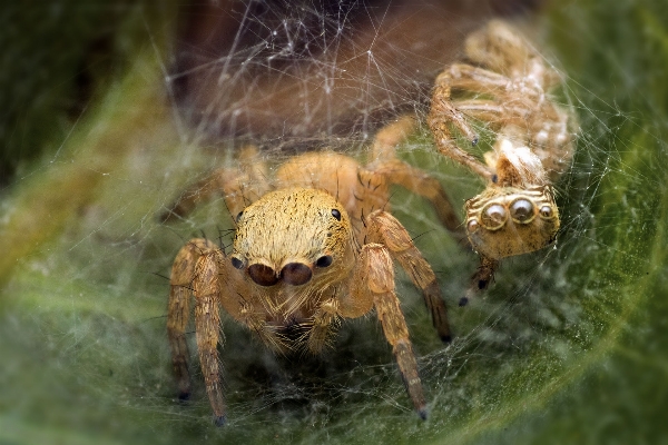
[[[549,186],[492,186],[469,199],[465,210],[471,246],[492,259],[549,246],[559,230],[559,211]]]

